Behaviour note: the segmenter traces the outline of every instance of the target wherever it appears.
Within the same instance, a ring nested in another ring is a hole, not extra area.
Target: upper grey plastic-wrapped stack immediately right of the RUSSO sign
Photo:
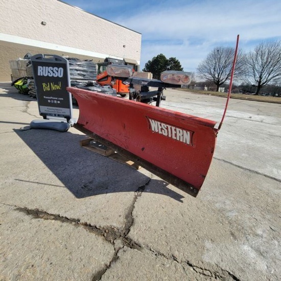
[[[96,80],[97,64],[91,60],[66,58],[69,62],[69,75],[71,80]]]

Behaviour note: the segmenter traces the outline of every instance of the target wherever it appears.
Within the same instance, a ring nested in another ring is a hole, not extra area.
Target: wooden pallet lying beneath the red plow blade
[[[95,139],[92,138],[86,138],[80,140],[80,146],[84,147],[88,150],[97,152],[103,156],[106,156],[108,158],[111,158],[115,161],[118,161],[120,163],[123,163],[127,166],[130,166],[136,170],[140,168],[139,165],[137,165],[134,161],[127,159],[126,157],[120,155],[119,153],[115,152],[113,149],[106,147],[105,145],[97,142]]]

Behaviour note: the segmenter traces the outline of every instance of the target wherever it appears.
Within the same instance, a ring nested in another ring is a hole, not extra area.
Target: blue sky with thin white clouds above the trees
[[[140,69],[158,54],[176,57],[184,71],[217,46],[253,50],[262,41],[281,40],[279,0],[63,0],[142,33]]]

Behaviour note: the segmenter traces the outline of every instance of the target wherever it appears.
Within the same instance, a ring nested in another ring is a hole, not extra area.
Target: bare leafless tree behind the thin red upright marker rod
[[[217,47],[198,65],[197,72],[200,77],[213,82],[216,91],[230,79],[235,49],[230,47]],[[244,72],[244,55],[239,51],[236,58],[235,75],[238,77]]]

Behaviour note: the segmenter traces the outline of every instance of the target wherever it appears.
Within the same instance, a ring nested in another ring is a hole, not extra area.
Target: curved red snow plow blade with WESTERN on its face
[[[196,197],[213,158],[216,122],[103,93],[67,87],[75,128]]]

